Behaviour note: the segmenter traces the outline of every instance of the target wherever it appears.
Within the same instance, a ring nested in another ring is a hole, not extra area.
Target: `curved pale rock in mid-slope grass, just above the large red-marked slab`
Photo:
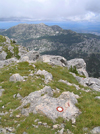
[[[52,80],[52,74],[51,73],[49,73],[49,72],[47,72],[47,71],[45,71],[45,70],[38,70],[37,71],[37,73],[36,73],[37,75],[44,75],[44,77],[45,77],[45,84],[47,84],[48,82],[50,82],[51,80]]]

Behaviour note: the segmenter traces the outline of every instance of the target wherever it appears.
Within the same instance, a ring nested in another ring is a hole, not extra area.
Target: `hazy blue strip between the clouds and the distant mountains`
[[[50,21],[34,21],[34,22],[0,22],[0,29],[9,29],[21,23],[39,24],[44,23],[48,26],[58,25],[63,29],[70,29],[80,33],[98,33],[100,34],[100,22],[50,22]]]

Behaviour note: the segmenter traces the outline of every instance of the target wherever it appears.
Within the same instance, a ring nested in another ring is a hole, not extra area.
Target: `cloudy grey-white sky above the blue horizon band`
[[[0,0],[0,21],[99,21],[100,0]]]

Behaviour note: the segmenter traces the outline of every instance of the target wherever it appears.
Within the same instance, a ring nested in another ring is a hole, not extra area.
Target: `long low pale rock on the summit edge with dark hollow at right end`
[[[66,66],[67,60],[62,56],[55,55],[43,55],[41,56],[43,62],[50,63],[51,65]]]

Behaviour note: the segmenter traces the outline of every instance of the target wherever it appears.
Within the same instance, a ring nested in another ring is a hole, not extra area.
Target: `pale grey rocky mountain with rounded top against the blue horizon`
[[[47,26],[43,23],[40,24],[19,24],[5,30],[2,34],[8,35],[10,38],[17,39],[18,43],[24,42],[28,39],[36,39],[43,36],[55,36],[60,34],[67,34],[71,30],[63,30],[59,26]],[[75,33],[75,32],[74,32]],[[21,40],[21,38],[23,39]]]

